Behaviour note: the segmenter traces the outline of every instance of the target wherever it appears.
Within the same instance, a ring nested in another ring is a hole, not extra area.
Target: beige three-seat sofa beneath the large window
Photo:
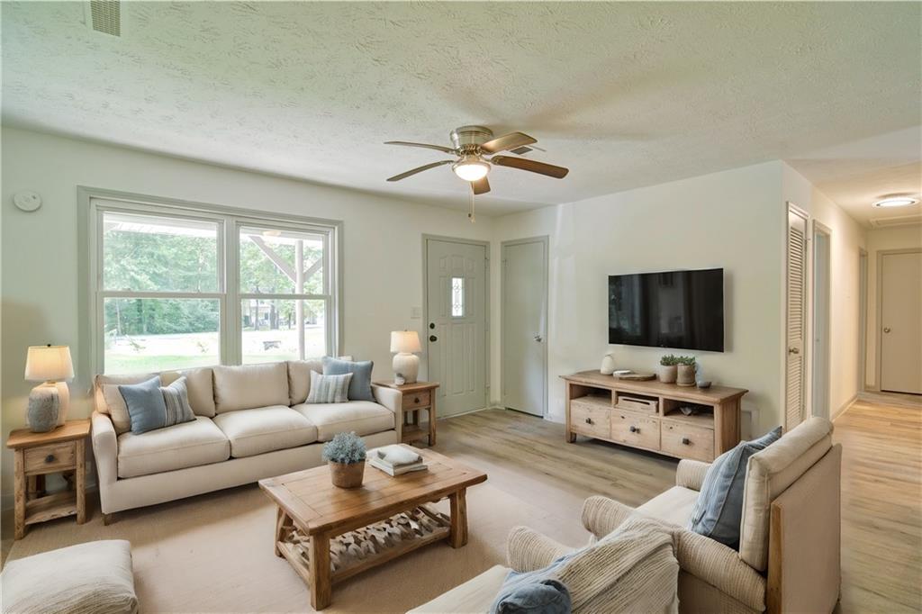
[[[372,385],[375,402],[305,403],[319,360],[162,372],[187,378],[195,421],[134,434],[110,407],[117,384],[154,374],[97,375],[93,455],[105,520],[115,512],[182,499],[322,464],[323,444],[356,431],[368,447],[400,441],[401,393]],[[115,420],[113,422],[113,417]]]

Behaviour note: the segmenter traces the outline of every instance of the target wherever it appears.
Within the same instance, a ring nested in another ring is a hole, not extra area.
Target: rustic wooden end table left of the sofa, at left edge
[[[53,431],[18,429],[9,433],[6,447],[14,454],[15,538],[26,537],[26,526],[77,515],[87,521],[86,439],[89,419],[68,420]],[[46,495],[45,476],[62,473],[70,489]]]

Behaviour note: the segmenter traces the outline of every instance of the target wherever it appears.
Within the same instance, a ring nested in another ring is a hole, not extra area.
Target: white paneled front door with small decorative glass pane
[[[426,239],[426,348],[439,416],[487,406],[487,246]]]

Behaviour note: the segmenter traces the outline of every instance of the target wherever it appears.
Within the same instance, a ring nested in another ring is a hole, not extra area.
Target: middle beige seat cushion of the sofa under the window
[[[215,424],[231,440],[231,456],[234,458],[261,455],[317,441],[317,428],[290,407],[256,407],[219,413]]]

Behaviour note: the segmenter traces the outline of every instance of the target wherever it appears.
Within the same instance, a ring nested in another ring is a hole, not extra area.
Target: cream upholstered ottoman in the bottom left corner
[[[89,541],[6,561],[0,584],[4,612],[137,611],[131,544],[124,539]]]

